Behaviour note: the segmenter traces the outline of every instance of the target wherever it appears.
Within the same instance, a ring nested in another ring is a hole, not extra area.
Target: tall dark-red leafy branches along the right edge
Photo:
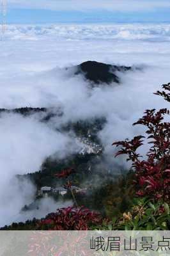
[[[162,86],[168,92],[170,83]],[[170,94],[157,92],[170,102]],[[116,156],[127,154],[127,161],[132,161],[135,170],[137,184],[137,195],[150,196],[151,198],[170,200],[170,123],[164,122],[164,116],[169,116],[168,109],[147,109],[143,118],[140,118],[134,125],[147,127],[148,143],[151,143],[150,150],[146,154],[146,160],[141,161],[137,149],[143,145],[143,136],[136,136],[133,140],[117,141],[113,145],[121,147]]]

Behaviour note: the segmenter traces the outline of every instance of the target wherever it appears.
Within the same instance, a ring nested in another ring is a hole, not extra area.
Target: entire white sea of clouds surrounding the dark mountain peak
[[[169,35],[168,24],[8,27],[0,42],[0,108],[55,107],[64,115],[49,124],[39,115],[1,115],[0,226],[54,211],[54,202],[46,200],[41,213],[23,217],[20,209],[32,202],[35,188],[15,175],[39,170],[50,155],[66,157],[79,150],[73,134],[56,132],[61,124],[105,116],[98,135],[114,170],[112,141],[141,134],[143,128],[132,123],[144,109],[167,107],[153,92],[170,81]],[[65,70],[87,60],[138,68],[118,73],[120,84],[90,88],[72,68]]]

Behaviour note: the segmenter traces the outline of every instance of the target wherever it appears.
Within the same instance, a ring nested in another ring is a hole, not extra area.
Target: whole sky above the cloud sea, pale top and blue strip
[[[170,22],[170,0],[7,0],[9,23]]]

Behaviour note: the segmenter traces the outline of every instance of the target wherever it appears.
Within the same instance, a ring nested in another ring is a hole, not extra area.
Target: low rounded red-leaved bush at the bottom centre
[[[55,213],[38,223],[39,230],[88,230],[89,225],[98,224],[101,217],[97,212],[84,207],[67,207],[58,209]]]

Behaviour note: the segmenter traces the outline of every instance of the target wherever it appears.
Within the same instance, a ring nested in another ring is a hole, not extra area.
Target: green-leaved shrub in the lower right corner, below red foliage
[[[132,209],[111,221],[92,227],[94,230],[169,230],[169,205],[158,202],[152,204],[146,198],[135,198]]]

